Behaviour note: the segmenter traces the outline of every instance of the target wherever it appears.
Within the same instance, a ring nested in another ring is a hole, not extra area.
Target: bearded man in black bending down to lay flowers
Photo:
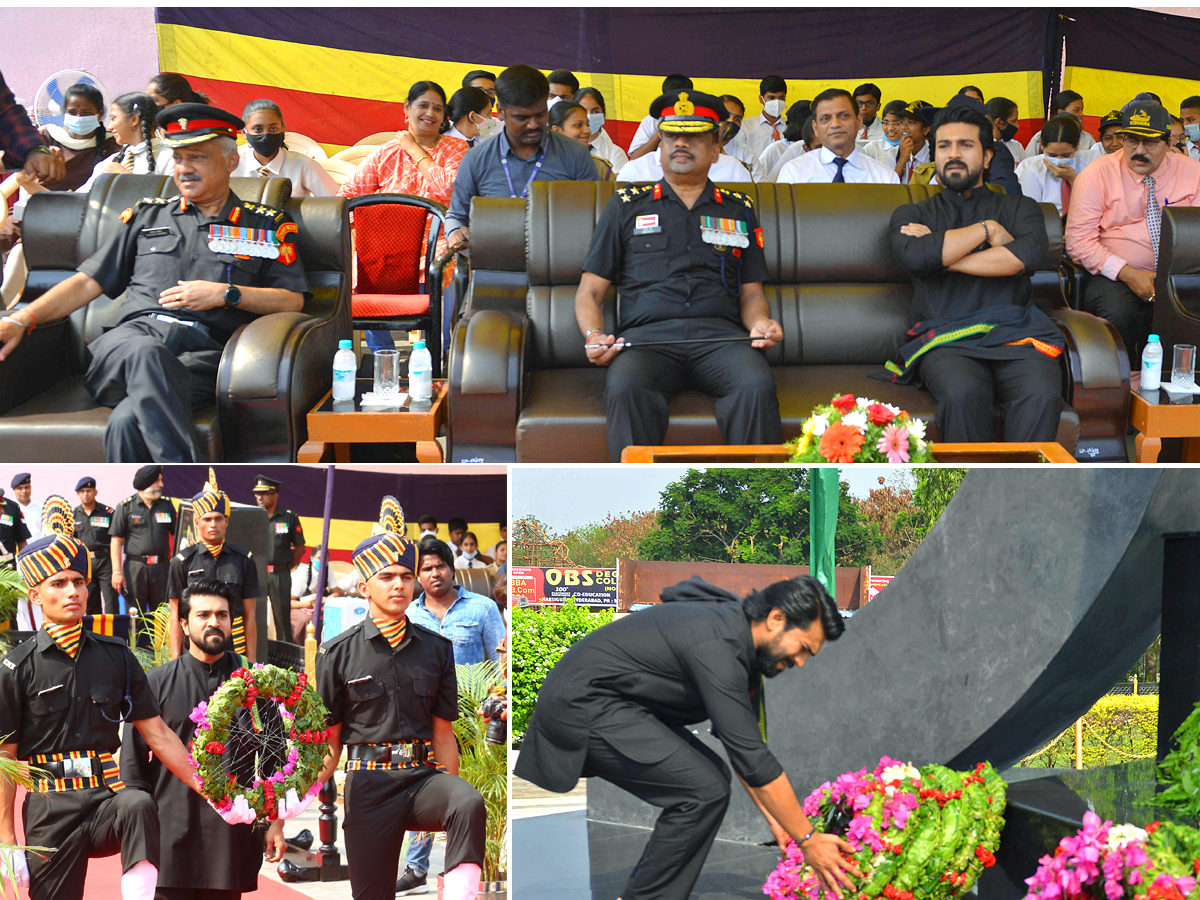
[[[566,792],[602,778],[662,809],[623,900],[684,900],[730,802],[730,767],[688,728],[706,719],[782,847],[804,848],[838,896],[858,874],[840,838],[814,834],[767,749],[762,678],[803,666],[841,636],[838,607],[808,575],[745,600],[698,577],[664,602],[593,631],[542,682],[514,773]]]

